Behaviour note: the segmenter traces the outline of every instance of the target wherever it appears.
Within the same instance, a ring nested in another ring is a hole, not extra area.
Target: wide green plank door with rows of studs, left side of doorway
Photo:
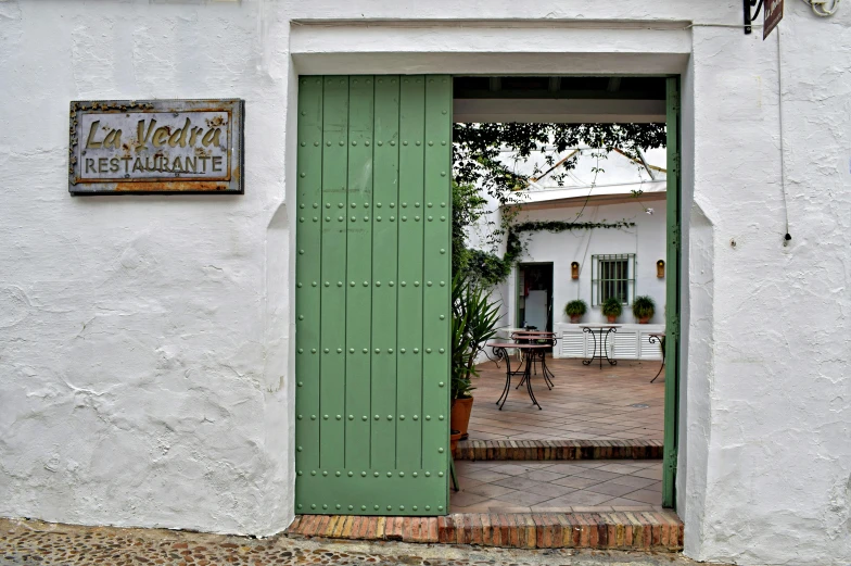
[[[302,76],[295,512],[448,511],[452,79]]]

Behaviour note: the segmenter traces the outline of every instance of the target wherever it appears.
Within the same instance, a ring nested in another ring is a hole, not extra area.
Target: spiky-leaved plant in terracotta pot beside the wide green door
[[[491,293],[463,275],[453,279],[452,320],[452,413],[449,428],[467,438],[473,408],[471,378],[479,375],[475,359],[496,336],[499,306]]]

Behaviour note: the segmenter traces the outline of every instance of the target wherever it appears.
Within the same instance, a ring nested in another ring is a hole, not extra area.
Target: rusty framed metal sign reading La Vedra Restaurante
[[[242,193],[242,100],[71,103],[72,194]]]

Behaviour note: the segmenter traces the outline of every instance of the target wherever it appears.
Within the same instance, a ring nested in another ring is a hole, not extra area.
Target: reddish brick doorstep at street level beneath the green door
[[[285,533],[516,549],[683,550],[683,521],[670,511],[456,513],[443,517],[296,515]]]

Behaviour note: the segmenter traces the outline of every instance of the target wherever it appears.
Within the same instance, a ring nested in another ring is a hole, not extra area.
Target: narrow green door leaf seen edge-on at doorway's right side
[[[665,279],[665,397],[664,448],[662,453],[662,505],[676,504],[676,445],[679,395],[679,77],[668,80],[668,278]]]

